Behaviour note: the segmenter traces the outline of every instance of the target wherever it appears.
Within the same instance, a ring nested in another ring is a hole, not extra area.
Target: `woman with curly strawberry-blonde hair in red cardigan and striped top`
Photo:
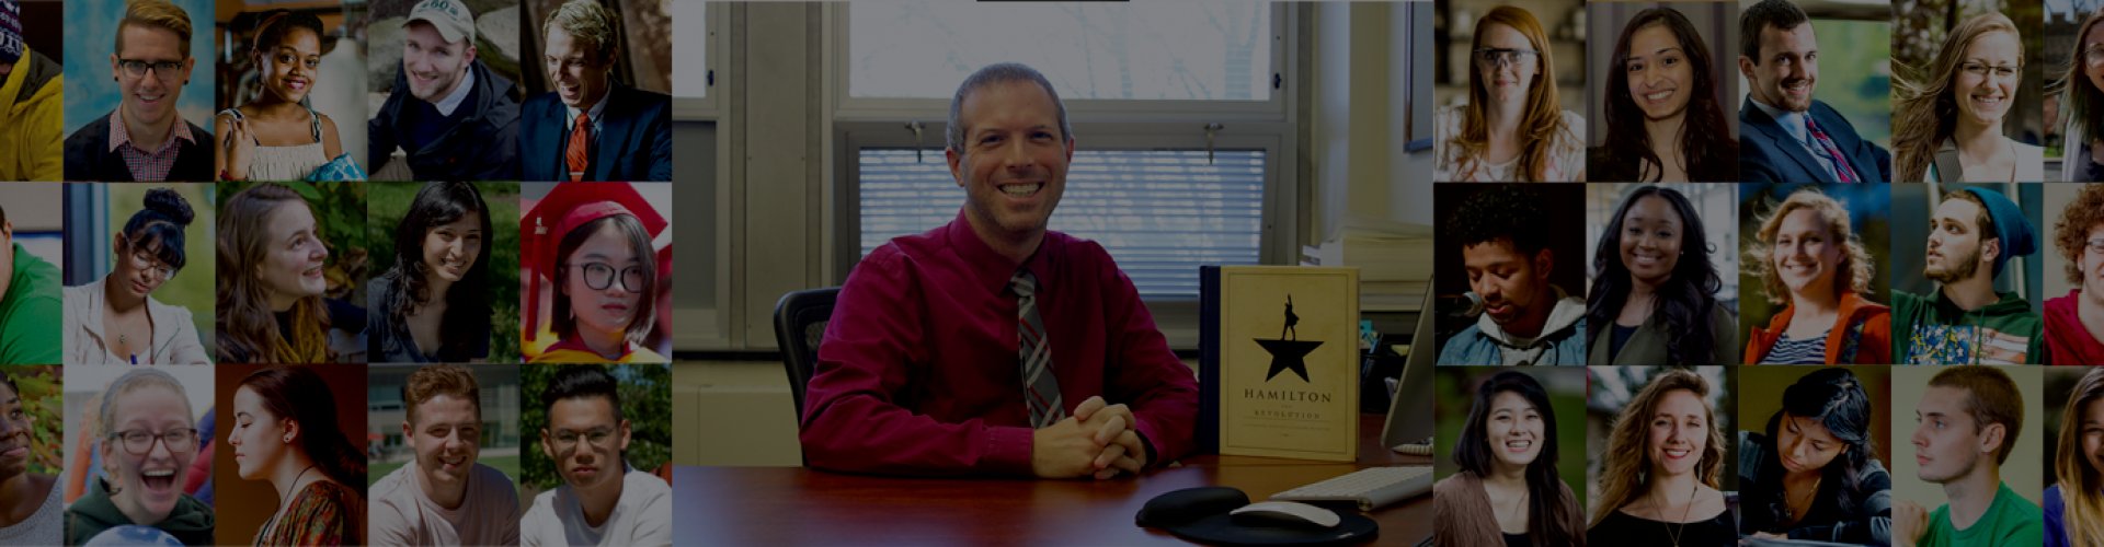
[[[1746,364],[1889,364],[1891,309],[1868,301],[1870,250],[1841,202],[1801,187],[1746,246],[1761,295],[1786,305],[1746,335]]]

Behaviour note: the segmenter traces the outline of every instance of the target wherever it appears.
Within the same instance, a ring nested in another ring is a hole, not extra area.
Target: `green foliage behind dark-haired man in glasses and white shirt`
[[[547,427],[541,389],[555,379],[558,366],[589,364],[520,366],[520,488],[549,490],[562,484],[555,461],[541,452],[541,427]],[[629,421],[627,461],[640,471],[656,471],[671,461],[671,366],[614,364],[608,372],[621,381],[621,417]]]

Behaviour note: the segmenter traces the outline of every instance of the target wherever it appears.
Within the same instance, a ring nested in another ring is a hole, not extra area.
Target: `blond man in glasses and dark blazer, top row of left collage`
[[[213,181],[213,135],[185,122],[177,99],[189,84],[189,13],[141,0],[118,23],[109,78],[124,93],[109,122],[65,137],[67,181]]]

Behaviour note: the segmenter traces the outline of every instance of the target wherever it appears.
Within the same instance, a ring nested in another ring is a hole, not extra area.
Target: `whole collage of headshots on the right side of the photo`
[[[2104,4],[1435,11],[1437,545],[2104,545]]]

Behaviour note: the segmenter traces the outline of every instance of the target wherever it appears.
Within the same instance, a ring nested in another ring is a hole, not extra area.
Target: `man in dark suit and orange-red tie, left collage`
[[[671,181],[671,97],[612,80],[616,15],[572,0],[541,23],[555,86],[522,107],[526,181]]]

